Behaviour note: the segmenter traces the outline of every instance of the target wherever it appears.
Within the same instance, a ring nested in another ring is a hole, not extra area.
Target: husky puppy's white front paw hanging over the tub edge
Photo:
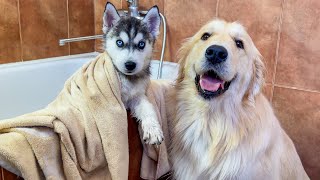
[[[161,144],[163,141],[163,133],[158,122],[142,121],[141,128],[143,133],[143,141],[146,144]]]

